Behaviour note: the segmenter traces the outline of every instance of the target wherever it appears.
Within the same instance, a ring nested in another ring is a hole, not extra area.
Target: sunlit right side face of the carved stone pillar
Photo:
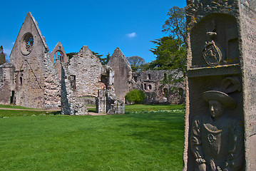
[[[246,170],[256,168],[256,1],[240,2]]]

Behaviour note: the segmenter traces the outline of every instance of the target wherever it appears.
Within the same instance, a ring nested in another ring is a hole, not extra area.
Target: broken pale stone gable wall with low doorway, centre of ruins
[[[87,115],[86,101],[81,99],[88,96],[98,98],[97,111],[99,113],[108,113],[110,108],[107,104],[113,104],[118,100],[112,87],[112,69],[103,66],[88,46],[83,46],[79,53],[71,58],[69,63],[63,63],[61,79],[62,113],[65,115]],[[104,92],[107,94],[105,94],[105,97]],[[108,100],[110,99],[109,96],[111,96],[111,100]],[[115,111],[114,113],[116,113]]]

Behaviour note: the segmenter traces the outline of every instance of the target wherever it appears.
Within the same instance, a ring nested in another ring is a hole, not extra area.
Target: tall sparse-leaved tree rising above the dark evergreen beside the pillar
[[[173,6],[169,9],[168,14],[169,19],[163,24],[163,32],[169,33],[169,36],[177,38],[180,40],[179,47],[185,44],[186,37],[186,21],[185,21],[185,8],[179,8],[178,6]]]

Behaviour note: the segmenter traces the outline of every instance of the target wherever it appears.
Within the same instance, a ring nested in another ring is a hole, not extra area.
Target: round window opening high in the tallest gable
[[[29,55],[34,46],[34,37],[31,33],[25,33],[21,39],[21,53]]]

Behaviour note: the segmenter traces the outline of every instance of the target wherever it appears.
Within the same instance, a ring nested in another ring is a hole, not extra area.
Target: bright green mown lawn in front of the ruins
[[[0,118],[0,168],[182,170],[184,113],[128,113],[4,116]]]

